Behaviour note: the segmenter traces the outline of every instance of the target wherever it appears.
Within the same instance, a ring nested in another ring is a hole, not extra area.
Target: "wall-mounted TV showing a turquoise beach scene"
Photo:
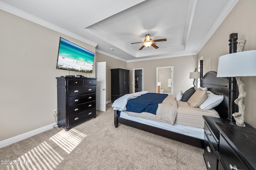
[[[92,73],[94,53],[60,37],[57,69]]]

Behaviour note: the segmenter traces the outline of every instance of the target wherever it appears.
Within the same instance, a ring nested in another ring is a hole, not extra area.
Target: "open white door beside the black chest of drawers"
[[[106,62],[96,63],[96,110],[106,111]]]

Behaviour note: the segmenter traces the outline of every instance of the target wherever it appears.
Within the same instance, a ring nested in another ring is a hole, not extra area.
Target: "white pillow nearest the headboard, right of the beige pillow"
[[[202,110],[209,110],[218,106],[224,99],[223,95],[216,95],[211,91],[207,91],[207,99],[199,106]]]

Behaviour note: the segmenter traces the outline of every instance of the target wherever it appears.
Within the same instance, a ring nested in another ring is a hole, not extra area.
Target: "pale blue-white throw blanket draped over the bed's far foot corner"
[[[112,104],[112,107],[114,107],[114,110],[119,110],[119,111],[126,111],[126,104],[128,100],[130,99],[135,99],[143,94],[147,94],[149,92],[147,91],[142,91],[142,92],[136,92],[132,94],[125,94],[124,96],[116,99],[114,103]]]

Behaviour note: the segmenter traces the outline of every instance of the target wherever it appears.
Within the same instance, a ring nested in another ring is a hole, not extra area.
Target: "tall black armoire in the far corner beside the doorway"
[[[129,72],[122,68],[111,69],[111,102],[130,92]]]

